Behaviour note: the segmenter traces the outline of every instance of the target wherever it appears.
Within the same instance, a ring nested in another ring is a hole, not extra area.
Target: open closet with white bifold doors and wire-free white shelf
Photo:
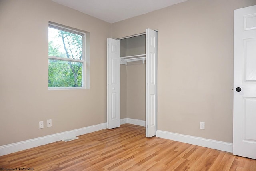
[[[157,40],[151,29],[140,36],[108,38],[108,129],[120,126],[121,114],[121,118],[145,120],[146,137],[156,135]]]

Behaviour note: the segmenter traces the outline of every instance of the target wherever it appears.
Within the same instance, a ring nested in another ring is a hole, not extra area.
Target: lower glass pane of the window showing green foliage
[[[82,62],[48,59],[48,87],[82,87]]]

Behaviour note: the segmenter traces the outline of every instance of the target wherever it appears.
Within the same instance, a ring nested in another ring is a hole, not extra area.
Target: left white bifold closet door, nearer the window
[[[107,127],[120,127],[119,40],[108,38],[107,48]]]

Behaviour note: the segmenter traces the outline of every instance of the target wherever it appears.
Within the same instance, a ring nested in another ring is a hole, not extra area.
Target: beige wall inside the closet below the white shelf
[[[146,68],[142,61],[120,65],[120,119],[146,118]]]

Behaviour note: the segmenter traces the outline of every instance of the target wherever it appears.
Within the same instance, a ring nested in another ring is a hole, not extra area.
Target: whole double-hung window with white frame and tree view
[[[48,88],[85,88],[86,34],[49,23]]]

